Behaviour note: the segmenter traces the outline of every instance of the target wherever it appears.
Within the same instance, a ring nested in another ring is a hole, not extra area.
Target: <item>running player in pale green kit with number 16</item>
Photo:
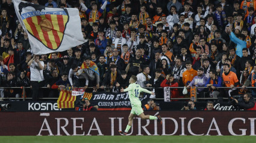
[[[119,130],[118,132],[120,133],[120,135],[127,135],[127,132],[130,130],[131,125],[133,124],[133,118],[138,115],[140,118],[142,118],[142,120],[157,120],[162,124],[162,119],[160,117],[160,115],[158,115],[157,117],[155,116],[151,116],[151,115],[144,115],[143,113],[143,109],[142,109],[142,103],[140,102],[139,96],[140,96],[140,92],[145,92],[145,93],[149,93],[154,95],[155,93],[153,93],[152,91],[148,91],[144,88],[141,88],[140,85],[136,84],[137,81],[137,77],[136,76],[131,76],[130,81],[129,81],[129,87],[125,88],[125,90],[123,90],[123,88],[120,90],[121,92],[126,92],[128,91],[129,93],[129,98],[131,101],[131,114],[129,115],[128,118],[128,125],[126,126],[125,131],[121,131]]]

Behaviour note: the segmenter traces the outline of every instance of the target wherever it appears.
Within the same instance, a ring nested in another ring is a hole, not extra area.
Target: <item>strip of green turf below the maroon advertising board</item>
[[[0,136],[0,142],[140,142],[140,143],[164,143],[164,142],[255,142],[256,136]]]

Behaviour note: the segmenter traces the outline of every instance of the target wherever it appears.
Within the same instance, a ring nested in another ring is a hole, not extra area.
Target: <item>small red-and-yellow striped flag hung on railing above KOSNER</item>
[[[76,96],[72,96],[72,88],[63,88],[57,100],[58,108],[75,108],[75,100]]]

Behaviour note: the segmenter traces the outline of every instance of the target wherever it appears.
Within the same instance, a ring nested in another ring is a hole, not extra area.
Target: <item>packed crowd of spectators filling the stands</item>
[[[28,97],[58,97],[57,88],[119,92],[129,85],[172,89],[172,98],[231,97],[252,93],[256,80],[255,0],[30,0],[46,7],[78,8],[86,43],[63,52],[31,53],[28,34],[11,0],[2,0],[0,16],[1,87],[30,87]],[[88,67],[96,67],[92,70]],[[85,68],[80,68],[84,66]],[[234,88],[234,87],[243,88]],[[51,90],[40,92],[39,87]],[[88,87],[94,87],[88,88]],[[218,89],[217,87],[229,87]],[[45,92],[48,92],[47,94]],[[40,96],[40,94],[44,93]],[[4,89],[4,97],[20,97]]]

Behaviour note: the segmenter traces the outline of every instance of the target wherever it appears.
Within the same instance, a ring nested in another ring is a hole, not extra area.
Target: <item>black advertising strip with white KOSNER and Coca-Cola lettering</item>
[[[142,106],[144,106],[147,102],[142,102]],[[156,102],[158,106],[160,106],[161,111],[180,111],[181,108],[184,107],[186,101],[184,102]],[[57,112],[66,112],[66,111],[75,111],[75,108],[58,108],[58,103],[55,101],[16,101],[16,102],[10,102],[10,101],[4,101],[0,102],[0,105],[6,105],[10,104],[10,108],[6,110],[2,110],[1,112],[45,112],[45,111],[57,111]],[[99,108],[107,108],[102,107],[101,103],[96,102],[93,103],[93,105],[98,105]],[[195,107],[198,111],[204,110],[206,108],[207,102],[196,102]],[[126,108],[126,111],[130,111],[131,107],[128,106]],[[116,111],[117,107],[115,109],[112,107],[112,111]],[[237,109],[236,106],[233,106],[229,102],[214,102],[214,109],[216,111],[237,111],[240,109]],[[119,110],[120,111],[120,110]],[[83,112],[83,111],[81,111]]]

